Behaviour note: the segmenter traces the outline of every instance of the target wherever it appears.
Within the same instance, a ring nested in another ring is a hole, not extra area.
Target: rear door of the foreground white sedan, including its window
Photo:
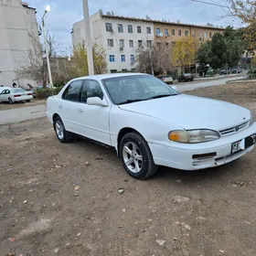
[[[67,131],[80,134],[78,115],[80,110],[80,91],[84,80],[73,80],[59,99],[59,116]]]

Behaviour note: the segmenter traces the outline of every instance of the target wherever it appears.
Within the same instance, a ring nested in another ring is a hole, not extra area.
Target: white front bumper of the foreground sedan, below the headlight
[[[251,127],[234,133],[229,136],[221,137],[219,140],[202,144],[169,144],[149,143],[155,165],[164,165],[181,170],[198,170],[218,165],[227,164],[240,156],[250,152],[254,145],[245,150],[241,150],[231,155],[231,144],[256,133],[256,123]],[[207,159],[193,159],[193,155],[204,155],[216,153],[215,156]]]

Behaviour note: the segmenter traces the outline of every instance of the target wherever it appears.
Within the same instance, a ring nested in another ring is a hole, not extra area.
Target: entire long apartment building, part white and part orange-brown
[[[100,12],[90,16],[91,37],[106,49],[108,71],[134,70],[138,48],[152,47],[162,43],[166,48],[182,37],[194,36],[199,40],[210,39],[223,28],[204,27],[180,23],[169,23],[151,19],[103,15]],[[73,46],[83,43],[84,21],[73,25],[71,32]]]

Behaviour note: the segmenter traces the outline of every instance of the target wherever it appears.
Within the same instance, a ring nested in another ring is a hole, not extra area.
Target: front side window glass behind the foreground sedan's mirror
[[[81,102],[87,103],[87,99],[92,97],[103,100],[101,85],[97,80],[85,80],[81,90]]]

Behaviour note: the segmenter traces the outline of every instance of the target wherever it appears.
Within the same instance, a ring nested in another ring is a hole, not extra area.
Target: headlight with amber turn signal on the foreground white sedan
[[[169,140],[183,144],[206,143],[219,139],[219,133],[212,130],[181,130],[172,131],[168,135]]]

